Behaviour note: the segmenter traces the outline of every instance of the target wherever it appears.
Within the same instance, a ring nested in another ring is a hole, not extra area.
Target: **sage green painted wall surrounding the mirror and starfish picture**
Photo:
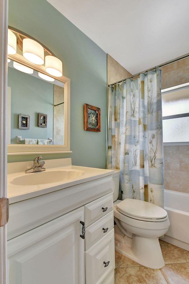
[[[46,0],[9,0],[8,24],[52,50],[63,62],[63,75],[71,79],[70,148],[73,153],[45,154],[43,158],[71,157],[73,165],[105,168],[106,53]],[[101,132],[84,130],[84,103],[100,107]],[[35,154],[8,156],[8,161],[29,161],[34,157]]]

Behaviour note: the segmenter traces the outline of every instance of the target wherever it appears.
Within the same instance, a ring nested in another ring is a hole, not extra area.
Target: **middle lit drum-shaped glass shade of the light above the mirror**
[[[23,39],[23,56],[32,63],[44,63],[44,49],[40,43],[30,38]]]

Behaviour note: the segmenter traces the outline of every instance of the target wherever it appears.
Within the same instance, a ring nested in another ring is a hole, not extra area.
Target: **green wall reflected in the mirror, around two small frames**
[[[11,144],[17,136],[48,139],[53,137],[53,84],[8,67],[11,87]],[[38,113],[48,115],[48,127],[38,127]],[[30,115],[30,129],[18,129],[18,114]],[[22,141],[24,143],[24,141]]]

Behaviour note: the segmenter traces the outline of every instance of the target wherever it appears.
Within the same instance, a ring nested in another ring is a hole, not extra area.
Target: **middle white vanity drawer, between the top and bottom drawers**
[[[107,235],[114,226],[113,210],[85,228],[85,250]]]

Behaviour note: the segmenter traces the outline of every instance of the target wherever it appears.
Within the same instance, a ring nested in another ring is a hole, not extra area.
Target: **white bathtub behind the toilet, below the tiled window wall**
[[[170,227],[162,240],[189,251],[189,194],[165,189],[164,209]]]

